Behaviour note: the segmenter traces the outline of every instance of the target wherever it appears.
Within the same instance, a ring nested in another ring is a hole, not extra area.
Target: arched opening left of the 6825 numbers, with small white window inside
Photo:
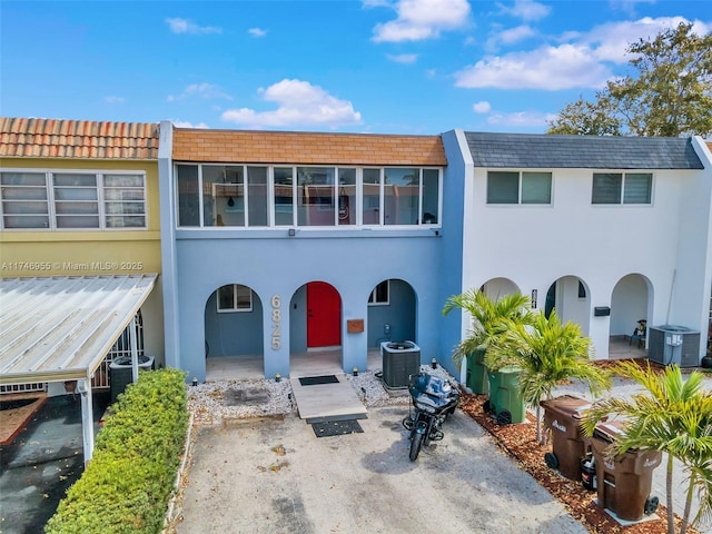
[[[263,304],[248,286],[218,287],[205,305],[206,379],[263,378]]]

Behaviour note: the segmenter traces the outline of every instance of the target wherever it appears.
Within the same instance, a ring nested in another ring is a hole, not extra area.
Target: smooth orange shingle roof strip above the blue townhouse
[[[446,166],[439,136],[176,128],[176,161]]]

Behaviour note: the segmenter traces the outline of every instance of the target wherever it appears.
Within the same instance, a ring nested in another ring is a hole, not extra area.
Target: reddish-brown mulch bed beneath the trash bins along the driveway
[[[660,520],[622,526],[607,512],[592,502],[596,497],[595,492],[586,491],[580,482],[564,478],[546,466],[544,454],[551,452],[551,441],[546,446],[538,444],[535,421],[531,414],[527,414],[525,423],[500,426],[494,417],[484,412],[483,404],[486,399],[486,395],[463,393],[461,408],[485,428],[498,442],[500,446],[518,462],[524,471],[556,497],[590,532],[595,534],[668,534],[666,508],[662,504],[656,512]],[[664,495],[659,495],[659,497],[661,501],[665,498]],[[675,517],[675,523],[678,531],[681,520]],[[691,526],[688,527],[688,532],[699,533]]]

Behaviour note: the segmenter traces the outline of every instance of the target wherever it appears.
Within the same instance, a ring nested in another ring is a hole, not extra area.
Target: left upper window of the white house
[[[487,204],[552,204],[552,174],[491,170]]]

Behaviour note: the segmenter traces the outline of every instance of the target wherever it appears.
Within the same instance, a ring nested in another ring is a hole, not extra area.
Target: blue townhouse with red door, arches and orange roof
[[[350,372],[386,339],[441,356],[439,136],[174,128],[166,142],[169,365],[201,380],[207,359],[257,356],[287,376],[330,348]]]

